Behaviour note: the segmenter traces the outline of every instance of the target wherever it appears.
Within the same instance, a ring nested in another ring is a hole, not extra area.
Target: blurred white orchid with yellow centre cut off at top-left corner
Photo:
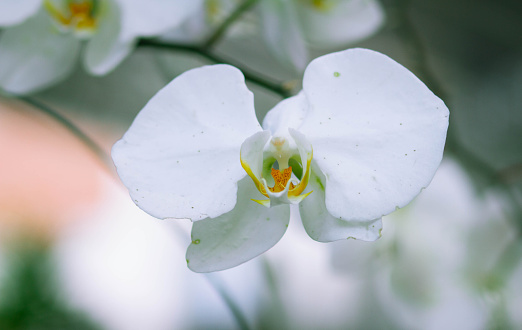
[[[25,94],[64,79],[82,43],[96,75],[114,69],[138,37],[181,24],[202,0],[18,0],[0,4],[0,87]]]

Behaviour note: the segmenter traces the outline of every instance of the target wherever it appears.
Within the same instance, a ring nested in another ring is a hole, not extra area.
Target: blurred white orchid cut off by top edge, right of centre
[[[260,8],[267,46],[298,72],[309,62],[308,46],[355,43],[376,33],[385,18],[377,0],[266,0]]]

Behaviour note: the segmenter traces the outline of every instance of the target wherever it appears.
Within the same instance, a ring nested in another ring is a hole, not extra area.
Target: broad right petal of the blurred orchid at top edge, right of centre
[[[384,23],[384,11],[375,0],[310,2],[296,6],[303,35],[314,47],[339,47],[374,34]]]

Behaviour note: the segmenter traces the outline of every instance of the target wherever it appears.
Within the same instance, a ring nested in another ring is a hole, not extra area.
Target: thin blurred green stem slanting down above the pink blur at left
[[[18,99],[42,111],[43,113],[47,114],[49,117],[53,118],[58,123],[60,123],[63,127],[69,130],[69,132],[71,132],[74,136],[80,139],[80,141],[82,141],[87,146],[87,148],[89,148],[101,160],[101,162],[110,172],[113,171],[112,161],[109,158],[109,156],[107,156],[105,151],[72,121],[62,116],[58,111],[53,110],[51,107],[33,99],[32,97],[19,96]]]

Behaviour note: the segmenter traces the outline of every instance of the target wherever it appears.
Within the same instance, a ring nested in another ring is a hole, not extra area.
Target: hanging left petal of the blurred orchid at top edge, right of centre
[[[264,0],[260,4],[266,44],[281,63],[302,72],[308,51],[299,30],[294,5],[286,0]]]

